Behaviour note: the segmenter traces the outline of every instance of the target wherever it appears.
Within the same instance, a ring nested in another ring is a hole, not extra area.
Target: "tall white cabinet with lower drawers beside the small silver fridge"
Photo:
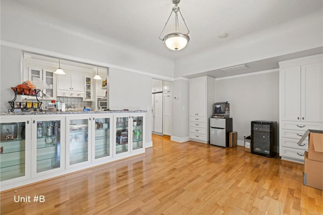
[[[189,81],[189,137],[202,143],[209,142],[209,118],[213,115],[216,80],[204,76]]]

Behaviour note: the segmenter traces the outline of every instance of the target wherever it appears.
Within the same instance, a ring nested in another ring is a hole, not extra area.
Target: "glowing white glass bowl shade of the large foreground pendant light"
[[[190,38],[182,33],[171,33],[164,37],[166,46],[171,50],[181,50],[185,48]]]

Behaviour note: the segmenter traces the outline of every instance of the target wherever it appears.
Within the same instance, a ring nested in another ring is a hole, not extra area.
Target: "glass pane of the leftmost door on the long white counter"
[[[25,123],[1,123],[0,180],[25,175]]]

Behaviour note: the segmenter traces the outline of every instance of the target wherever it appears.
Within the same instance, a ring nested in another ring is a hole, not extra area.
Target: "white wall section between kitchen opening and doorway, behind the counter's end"
[[[125,70],[109,69],[111,110],[146,110],[146,142],[151,141],[152,78]]]

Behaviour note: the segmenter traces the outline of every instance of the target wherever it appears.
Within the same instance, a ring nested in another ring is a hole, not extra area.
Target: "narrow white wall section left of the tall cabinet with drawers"
[[[177,79],[172,85],[172,136],[171,140],[189,140],[188,79]],[[174,97],[178,97],[175,99]]]

